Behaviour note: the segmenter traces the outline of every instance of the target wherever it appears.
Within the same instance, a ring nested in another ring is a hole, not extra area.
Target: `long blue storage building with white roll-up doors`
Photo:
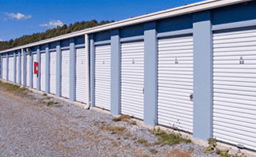
[[[256,151],[255,0],[198,2],[0,53],[2,80]]]

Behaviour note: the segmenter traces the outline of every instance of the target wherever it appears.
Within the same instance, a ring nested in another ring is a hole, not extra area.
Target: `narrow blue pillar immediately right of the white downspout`
[[[93,39],[93,35],[89,36],[89,40],[90,40],[90,83],[91,83],[91,107],[95,107],[95,46],[94,46],[94,39]]]

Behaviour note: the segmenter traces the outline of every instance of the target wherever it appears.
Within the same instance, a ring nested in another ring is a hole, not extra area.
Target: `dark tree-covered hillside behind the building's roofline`
[[[19,47],[21,45],[34,43],[42,39],[49,39],[49,38],[64,35],[70,32],[77,32],[85,28],[93,28],[98,25],[109,24],[111,22],[115,22],[115,21],[100,21],[100,23],[98,23],[98,21],[92,20],[92,21],[76,22],[74,24],[70,24],[69,26],[64,24],[62,27],[58,26],[58,28],[47,29],[46,32],[34,33],[32,35],[25,35],[14,40],[10,39],[9,41],[0,41],[0,50]]]

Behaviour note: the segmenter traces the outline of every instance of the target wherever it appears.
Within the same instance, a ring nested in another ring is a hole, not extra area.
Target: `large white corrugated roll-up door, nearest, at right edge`
[[[256,29],[213,34],[213,136],[256,150]]]

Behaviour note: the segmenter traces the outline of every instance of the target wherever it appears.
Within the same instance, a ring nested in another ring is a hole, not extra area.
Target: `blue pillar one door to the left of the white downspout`
[[[76,99],[76,48],[74,38],[70,39],[70,100]]]

